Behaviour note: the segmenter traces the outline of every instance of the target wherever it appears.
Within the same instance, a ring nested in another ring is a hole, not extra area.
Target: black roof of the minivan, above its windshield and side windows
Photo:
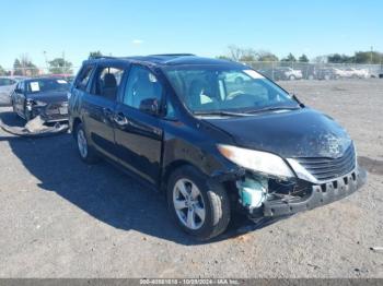
[[[164,55],[150,55],[150,56],[136,56],[136,57],[95,57],[85,60],[84,63],[92,62],[140,62],[148,65],[231,65],[231,67],[244,67],[242,63],[237,63],[230,60],[211,59],[197,57],[193,53],[164,53]]]

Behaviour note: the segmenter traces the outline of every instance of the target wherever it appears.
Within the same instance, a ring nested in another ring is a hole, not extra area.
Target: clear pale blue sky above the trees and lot
[[[225,55],[229,45],[309,58],[383,51],[380,0],[0,0],[0,65],[90,51]],[[45,52],[45,53],[44,53]]]

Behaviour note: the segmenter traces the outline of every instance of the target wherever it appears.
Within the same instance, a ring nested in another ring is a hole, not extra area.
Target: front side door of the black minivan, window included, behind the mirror
[[[162,134],[160,116],[143,111],[141,103],[161,106],[163,86],[143,65],[132,64],[115,111],[115,140],[120,163],[151,183],[160,175]]]

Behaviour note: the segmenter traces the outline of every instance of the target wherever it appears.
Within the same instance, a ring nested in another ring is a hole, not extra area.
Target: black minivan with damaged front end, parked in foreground
[[[69,118],[85,163],[107,158],[163,191],[177,225],[200,240],[224,231],[233,212],[286,217],[344,198],[367,177],[330,117],[225,60],[89,59]]]

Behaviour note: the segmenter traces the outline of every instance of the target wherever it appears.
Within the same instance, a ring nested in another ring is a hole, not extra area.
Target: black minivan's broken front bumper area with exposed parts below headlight
[[[213,174],[208,184],[210,188],[223,184],[235,210],[258,222],[280,219],[338,201],[360,189],[367,176],[367,171],[357,164],[346,175],[317,182],[263,176],[237,167]],[[265,183],[265,178],[268,183]]]

